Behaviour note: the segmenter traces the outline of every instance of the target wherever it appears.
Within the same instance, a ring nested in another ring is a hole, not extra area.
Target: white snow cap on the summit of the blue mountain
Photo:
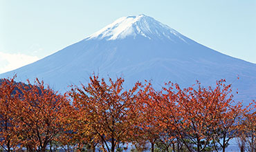
[[[137,36],[143,36],[147,39],[170,40],[178,37],[185,41],[179,32],[146,15],[121,17],[105,28],[93,33],[87,39],[115,40],[125,39],[126,37],[135,38]]]

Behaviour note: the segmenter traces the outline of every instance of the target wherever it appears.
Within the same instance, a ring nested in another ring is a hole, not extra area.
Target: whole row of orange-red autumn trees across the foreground
[[[234,102],[225,80],[214,88],[181,89],[150,82],[123,88],[124,79],[90,77],[64,95],[36,79],[3,79],[0,144],[6,151],[225,151],[232,138],[241,151],[256,151],[256,103]],[[131,146],[131,144],[133,146]]]

